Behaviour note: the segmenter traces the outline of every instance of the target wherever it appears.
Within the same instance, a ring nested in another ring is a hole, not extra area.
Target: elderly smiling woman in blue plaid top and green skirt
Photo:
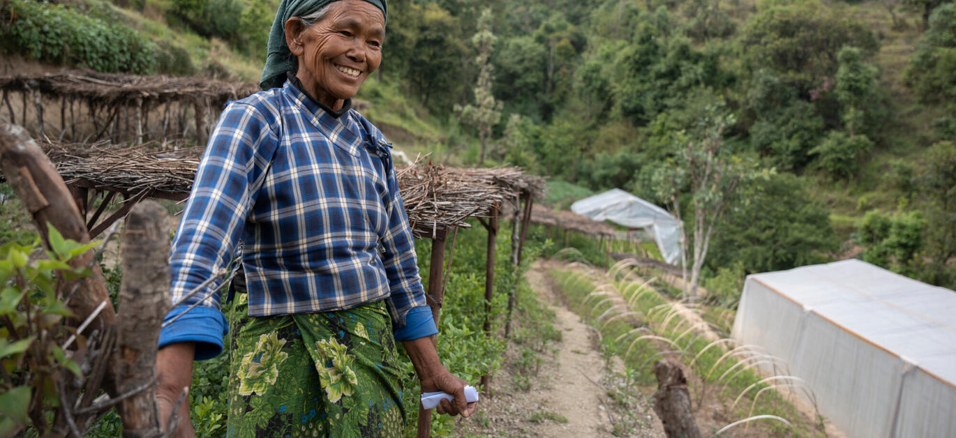
[[[246,294],[231,327],[230,436],[402,433],[402,342],[439,413],[467,416],[465,382],[431,336],[390,144],[351,109],[379,67],[385,0],[284,0],[262,92],[229,103],[209,143],[171,254],[172,300],[227,268],[242,245]],[[228,333],[217,287],[166,317],[161,418]],[[199,307],[180,316],[204,299]],[[188,404],[179,417],[188,422]],[[410,406],[409,406],[410,407]],[[180,428],[191,436],[192,427]]]

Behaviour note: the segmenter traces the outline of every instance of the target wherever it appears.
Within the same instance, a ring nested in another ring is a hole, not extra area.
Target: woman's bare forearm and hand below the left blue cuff
[[[192,383],[192,361],[195,357],[195,344],[192,342],[172,343],[164,346],[156,354],[156,405],[160,410],[160,427],[165,431],[169,425],[176,402],[184,388]],[[189,394],[185,395],[179,409],[179,427],[176,427],[177,438],[193,438],[196,436],[189,420]]]

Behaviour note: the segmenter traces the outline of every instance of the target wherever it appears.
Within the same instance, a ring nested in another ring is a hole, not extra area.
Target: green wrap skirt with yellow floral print
[[[247,314],[245,294],[236,310]],[[402,376],[384,301],[230,327],[227,434],[401,436]]]

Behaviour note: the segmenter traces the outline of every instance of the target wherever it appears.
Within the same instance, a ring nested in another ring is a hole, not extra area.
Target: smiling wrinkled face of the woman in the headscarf
[[[298,17],[286,21],[286,43],[298,58],[298,72],[307,93],[330,108],[359,92],[362,82],[379,68],[385,17],[364,0],[339,0],[313,26]]]

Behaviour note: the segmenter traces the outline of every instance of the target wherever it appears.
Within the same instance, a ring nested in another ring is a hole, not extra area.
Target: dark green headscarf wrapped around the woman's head
[[[272,31],[269,33],[269,55],[266,55],[266,66],[262,69],[262,77],[259,78],[259,88],[269,90],[281,87],[286,81],[286,72],[291,67],[289,60],[293,59],[293,54],[289,52],[289,46],[286,44],[286,21],[293,16],[303,16],[318,11],[335,1],[337,0],[282,0],[279,10],[275,11],[275,20],[272,21]],[[385,18],[388,18],[386,0],[365,1],[379,7]]]

